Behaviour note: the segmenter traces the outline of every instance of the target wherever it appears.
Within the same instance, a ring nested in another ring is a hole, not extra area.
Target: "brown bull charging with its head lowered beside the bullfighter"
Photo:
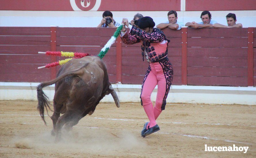
[[[119,107],[119,99],[112,88],[105,64],[98,56],[86,56],[72,59],[61,67],[57,78],[39,84],[37,87],[37,109],[44,120],[44,107],[49,108],[49,99],[42,88],[55,83],[54,113],[52,135],[55,141],[61,138],[61,129],[66,130],[78,124],[85,115],[91,115],[100,100],[111,93],[115,104]],[[63,114],[60,116],[60,113]],[[46,123],[46,122],[45,122]]]

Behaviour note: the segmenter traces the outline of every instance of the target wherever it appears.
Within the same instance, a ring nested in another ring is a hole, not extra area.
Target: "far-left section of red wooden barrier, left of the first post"
[[[42,82],[50,80],[50,63],[38,51],[50,50],[49,27],[0,27],[0,81]]]

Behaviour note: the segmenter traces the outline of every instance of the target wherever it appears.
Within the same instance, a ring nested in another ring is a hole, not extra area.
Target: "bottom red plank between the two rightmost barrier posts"
[[[188,85],[195,86],[247,86],[247,77],[188,76]]]

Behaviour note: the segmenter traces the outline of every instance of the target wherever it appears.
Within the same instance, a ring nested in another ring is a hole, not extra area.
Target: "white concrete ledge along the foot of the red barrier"
[[[36,87],[39,83],[0,82],[0,100],[37,100]],[[141,85],[112,84],[121,102],[140,102]],[[54,84],[43,88],[50,100],[54,97]],[[156,99],[157,86],[151,100]],[[107,95],[102,102],[114,102]],[[171,86],[167,103],[208,103],[256,105],[256,87],[225,86]]]

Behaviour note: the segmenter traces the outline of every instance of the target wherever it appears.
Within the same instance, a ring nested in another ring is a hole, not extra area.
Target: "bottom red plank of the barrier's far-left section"
[[[41,74],[35,74],[35,73],[0,74],[1,82],[45,82],[49,80],[50,80],[50,71],[49,73],[41,73]]]

